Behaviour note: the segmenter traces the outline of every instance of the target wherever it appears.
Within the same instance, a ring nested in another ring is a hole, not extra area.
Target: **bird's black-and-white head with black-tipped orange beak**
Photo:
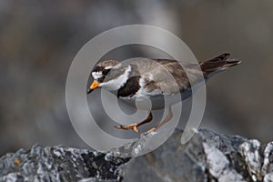
[[[100,62],[91,72],[94,81],[87,89],[87,94],[90,94],[98,87],[104,87],[109,91],[117,90],[124,86],[130,71],[131,66],[123,66],[116,60]]]

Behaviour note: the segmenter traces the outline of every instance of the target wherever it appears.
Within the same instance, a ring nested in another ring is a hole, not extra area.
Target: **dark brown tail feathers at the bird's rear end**
[[[227,59],[228,56],[230,56],[229,53],[224,53],[220,56],[208,59],[207,61],[200,62],[204,76],[213,76],[219,71],[225,70],[231,66],[237,66],[241,63],[241,61],[238,61],[237,59]]]

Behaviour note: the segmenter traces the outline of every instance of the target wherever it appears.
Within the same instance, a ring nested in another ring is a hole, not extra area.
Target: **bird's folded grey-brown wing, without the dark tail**
[[[150,95],[172,95],[190,87],[189,79],[193,84],[202,78],[196,64],[183,64],[168,59],[142,59],[136,62],[138,71],[144,79],[145,92]],[[187,72],[185,71],[187,69]]]

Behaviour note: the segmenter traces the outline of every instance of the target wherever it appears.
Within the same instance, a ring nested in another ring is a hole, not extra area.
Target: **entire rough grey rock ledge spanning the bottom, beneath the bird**
[[[34,146],[0,158],[0,181],[273,181],[273,143],[207,129],[181,146],[176,132],[153,152],[129,158]]]

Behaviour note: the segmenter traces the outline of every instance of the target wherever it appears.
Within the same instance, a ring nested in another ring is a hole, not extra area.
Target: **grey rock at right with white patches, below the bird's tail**
[[[200,129],[181,146],[176,130],[153,152],[126,167],[125,181],[273,181],[273,143]],[[263,149],[265,148],[265,149]]]

